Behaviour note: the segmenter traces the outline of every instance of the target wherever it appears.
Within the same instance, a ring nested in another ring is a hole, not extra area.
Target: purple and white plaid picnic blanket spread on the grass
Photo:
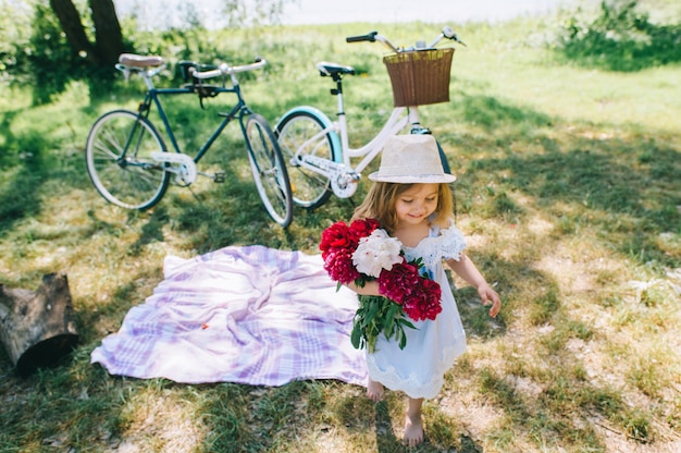
[[[356,309],[319,255],[255,245],[169,256],[164,280],[90,359],[111,375],[186,383],[366,385],[363,353],[349,338]]]

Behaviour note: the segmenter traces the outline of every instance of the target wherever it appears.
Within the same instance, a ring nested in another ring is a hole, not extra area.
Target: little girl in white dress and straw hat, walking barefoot
[[[367,353],[369,382],[367,395],[374,402],[383,397],[384,385],[408,396],[405,441],[409,446],[423,441],[421,405],[439,392],[444,375],[466,350],[466,334],[443,268],[443,259],[459,277],[478,290],[490,316],[502,308],[499,295],[487,284],[473,261],[465,254],[463,235],[454,225],[454,203],[437,144],[431,135],[391,137],[383,149],[381,167],[369,175],[375,183],[355,219],[376,219],[392,236],[401,242],[408,260],[422,258],[429,277],[442,287],[442,313],[435,320],[413,321],[417,329],[405,329],[407,345],[379,335],[375,351]],[[358,294],[379,295],[376,281],[358,287]]]

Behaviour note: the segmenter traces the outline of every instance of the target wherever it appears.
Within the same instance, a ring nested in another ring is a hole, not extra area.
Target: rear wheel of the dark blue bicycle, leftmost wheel
[[[163,138],[151,123],[128,110],[99,117],[87,137],[85,162],[99,194],[127,209],[152,207],[168,189],[166,164],[152,152],[165,151]]]

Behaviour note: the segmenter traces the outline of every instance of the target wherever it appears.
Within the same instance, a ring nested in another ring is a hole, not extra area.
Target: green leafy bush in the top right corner
[[[578,11],[564,24],[559,51],[579,64],[612,71],[681,61],[681,24],[654,24],[637,7],[637,0],[603,1],[595,19]]]

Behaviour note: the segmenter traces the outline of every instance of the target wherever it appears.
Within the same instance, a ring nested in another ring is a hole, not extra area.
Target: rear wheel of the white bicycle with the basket
[[[288,166],[288,177],[294,194],[294,203],[306,209],[322,206],[331,196],[329,177],[300,166],[296,152],[310,138],[323,131],[324,122],[307,110],[286,113],[276,125],[274,133]],[[298,156],[315,156],[335,160],[335,148],[330,134],[306,145]]]

